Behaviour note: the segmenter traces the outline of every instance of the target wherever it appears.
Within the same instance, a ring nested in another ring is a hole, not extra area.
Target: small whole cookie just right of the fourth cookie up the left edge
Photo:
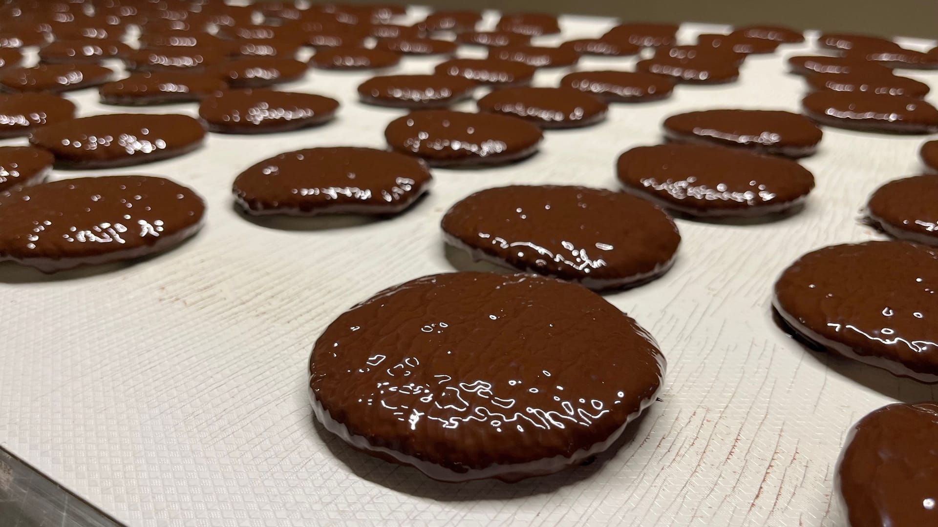
[[[228,84],[204,73],[146,71],[102,84],[98,93],[104,104],[146,106],[201,100],[227,88]]]

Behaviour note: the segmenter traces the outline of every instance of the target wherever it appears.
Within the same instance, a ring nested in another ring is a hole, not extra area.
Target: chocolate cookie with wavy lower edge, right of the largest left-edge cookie
[[[429,188],[422,160],[374,148],[307,148],[267,158],[234,179],[252,215],[398,214]]]

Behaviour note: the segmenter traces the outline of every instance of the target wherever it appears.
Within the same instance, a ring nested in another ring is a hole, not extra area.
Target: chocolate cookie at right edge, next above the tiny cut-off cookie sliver
[[[938,109],[920,98],[822,91],[801,100],[811,119],[828,127],[892,133],[938,132]]]

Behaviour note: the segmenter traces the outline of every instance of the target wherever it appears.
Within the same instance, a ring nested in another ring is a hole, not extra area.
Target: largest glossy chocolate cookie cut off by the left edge
[[[78,177],[0,193],[0,260],[52,273],[139,258],[199,230],[205,204],[161,177]]]

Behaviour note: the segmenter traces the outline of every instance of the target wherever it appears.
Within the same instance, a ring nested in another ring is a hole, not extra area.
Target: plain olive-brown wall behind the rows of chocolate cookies
[[[938,38],[938,0],[414,0],[411,3],[433,8],[607,15],[637,22],[778,23],[800,29]]]

